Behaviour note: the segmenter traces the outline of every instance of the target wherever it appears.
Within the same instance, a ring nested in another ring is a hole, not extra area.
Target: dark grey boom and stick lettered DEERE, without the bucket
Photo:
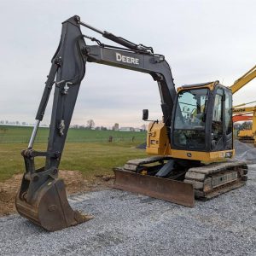
[[[149,73],[159,85],[164,122],[166,126],[171,125],[172,107],[176,97],[176,90],[173,84],[171,69],[164,56],[154,55],[151,52],[148,53],[148,51],[141,51],[140,49],[136,51],[133,49],[119,49],[113,46],[105,46],[101,43],[99,43],[100,45],[86,45],[84,36],[79,28],[80,24],[84,23],[79,22],[78,16],[74,16],[63,23],[61,43],[53,58],[49,79],[46,82],[36,117],[38,121],[43,119],[50,89],[52,84],[55,83],[46,169],[52,166],[57,168],[59,165],[76,98],[79,93],[79,86],[84,78],[87,61]],[[114,36],[113,34],[111,35],[112,39]],[[120,42],[123,43],[124,40],[122,38]],[[118,38],[116,37],[114,41],[117,43]],[[54,73],[56,73],[56,81],[54,81]],[[29,148],[32,148],[32,143],[29,144]],[[58,157],[55,157],[56,155]]]

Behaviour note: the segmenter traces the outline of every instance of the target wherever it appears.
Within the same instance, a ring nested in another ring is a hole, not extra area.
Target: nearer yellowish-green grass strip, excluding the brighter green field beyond
[[[145,151],[137,149],[138,143],[67,143],[61,159],[61,170],[79,170],[85,178],[99,174],[113,174],[112,168],[122,166],[127,160],[144,157]],[[20,155],[25,143],[0,143],[0,181],[25,171]],[[35,149],[45,150],[46,143],[35,144]],[[36,158],[36,166],[44,166],[44,158]]]

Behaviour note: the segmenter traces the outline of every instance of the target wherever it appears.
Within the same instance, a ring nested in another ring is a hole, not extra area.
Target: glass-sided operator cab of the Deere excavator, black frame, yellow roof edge
[[[232,92],[218,84],[184,85],[177,90],[171,147],[191,151],[233,148]]]

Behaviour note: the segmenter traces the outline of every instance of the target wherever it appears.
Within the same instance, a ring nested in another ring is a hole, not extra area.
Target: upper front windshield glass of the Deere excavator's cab
[[[178,94],[174,129],[204,130],[207,89],[183,90]]]

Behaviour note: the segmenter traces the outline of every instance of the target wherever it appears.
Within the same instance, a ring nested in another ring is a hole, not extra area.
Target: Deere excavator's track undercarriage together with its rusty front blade
[[[154,156],[129,160],[114,168],[114,188],[148,195],[193,207],[195,198],[211,199],[244,185],[247,165],[243,161],[201,164]]]

